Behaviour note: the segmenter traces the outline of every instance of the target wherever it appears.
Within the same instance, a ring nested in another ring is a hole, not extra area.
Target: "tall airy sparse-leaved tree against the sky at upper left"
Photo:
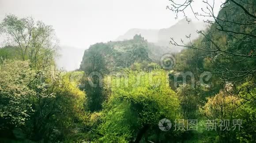
[[[52,26],[35,22],[33,18],[6,15],[0,23],[0,32],[8,36],[9,44],[17,47],[14,52],[19,55],[17,58],[30,60],[31,66],[37,69],[54,64],[58,40]]]

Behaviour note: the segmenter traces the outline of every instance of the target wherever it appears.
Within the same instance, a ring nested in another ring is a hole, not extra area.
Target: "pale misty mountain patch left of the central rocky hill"
[[[70,46],[61,46],[59,56],[56,57],[56,64],[65,71],[72,71],[79,68],[82,61],[84,49]]]

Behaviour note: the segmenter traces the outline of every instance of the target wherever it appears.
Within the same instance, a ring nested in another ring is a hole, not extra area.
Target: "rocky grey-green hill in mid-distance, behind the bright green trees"
[[[164,49],[147,42],[140,35],[130,40],[96,43],[84,51],[80,70],[111,72],[130,67],[135,62],[158,62]]]

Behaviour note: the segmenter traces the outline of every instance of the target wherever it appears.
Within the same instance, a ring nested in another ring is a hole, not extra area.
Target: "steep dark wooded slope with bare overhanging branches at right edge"
[[[204,7],[200,12],[194,9],[194,0],[169,1],[170,6],[166,8],[173,11],[176,18],[182,13],[190,22],[186,11],[191,11],[196,19],[204,19],[210,25],[206,31],[197,31],[202,39],[201,44],[191,40],[184,43],[182,39],[182,44],[179,44],[173,38],[170,43],[201,51],[203,56],[197,58],[206,58],[211,62],[214,67],[212,72],[234,86],[233,95],[247,91],[249,95],[239,97],[256,102],[256,95],[252,93],[256,88],[256,1],[226,0],[218,6],[218,15],[215,14],[215,0],[203,0]],[[190,36],[186,38],[190,39]]]

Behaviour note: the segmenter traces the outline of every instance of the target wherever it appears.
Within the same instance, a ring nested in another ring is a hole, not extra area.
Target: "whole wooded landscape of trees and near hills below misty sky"
[[[218,15],[169,0],[209,26],[170,37],[179,53],[133,39],[95,43],[80,68],[57,68],[53,26],[6,15],[0,32],[0,142],[254,143],[256,1],[226,0]],[[182,29],[181,29],[182,30]]]

